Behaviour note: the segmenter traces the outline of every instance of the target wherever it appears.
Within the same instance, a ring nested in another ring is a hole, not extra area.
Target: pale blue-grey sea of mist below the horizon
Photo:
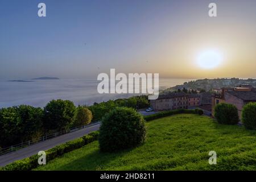
[[[160,78],[159,89],[183,84],[195,79]],[[99,94],[93,79],[33,80],[31,82],[0,81],[0,107],[32,105],[44,107],[53,99],[70,100],[75,105],[127,98],[136,94]]]

